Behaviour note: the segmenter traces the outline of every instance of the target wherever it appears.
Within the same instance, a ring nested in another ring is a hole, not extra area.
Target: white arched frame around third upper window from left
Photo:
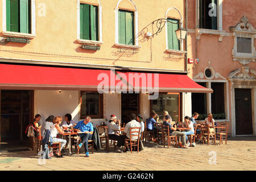
[[[117,6],[115,7],[115,44],[119,44],[118,43],[118,5],[119,3],[123,1],[123,0],[119,0],[117,2]],[[133,0],[128,0],[131,3],[133,3],[134,7],[135,7],[135,11],[134,11],[134,43],[135,45],[133,46],[139,46],[139,37],[138,37],[138,33],[139,33],[139,22],[138,22],[138,9],[137,6],[135,5],[135,3],[133,2]],[[131,45],[129,45],[131,46]]]

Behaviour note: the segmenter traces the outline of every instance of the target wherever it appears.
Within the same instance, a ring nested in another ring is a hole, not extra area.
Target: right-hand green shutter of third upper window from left
[[[133,12],[125,12],[125,30],[126,40],[125,43],[134,45],[134,16]]]

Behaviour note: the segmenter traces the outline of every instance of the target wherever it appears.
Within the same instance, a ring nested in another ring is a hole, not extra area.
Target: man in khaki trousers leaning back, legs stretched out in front
[[[179,137],[181,137],[181,142],[182,142],[182,144],[180,144],[180,147],[181,148],[188,148],[186,145],[185,145],[185,143],[186,143],[186,135],[185,135],[185,133],[182,133],[182,132],[180,132],[180,131],[176,131],[176,125],[174,125],[174,127],[171,125],[171,123],[169,123],[170,122],[170,119],[171,119],[171,117],[170,117],[170,115],[166,115],[166,119],[165,119],[165,121],[162,123],[162,125],[165,125],[165,126],[169,126],[169,130],[170,130],[170,135],[172,135],[172,136],[177,136],[177,139],[179,139]]]

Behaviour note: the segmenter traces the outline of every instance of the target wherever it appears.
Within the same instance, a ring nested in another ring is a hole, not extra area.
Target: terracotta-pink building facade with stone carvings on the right
[[[255,1],[188,2],[188,65],[213,93],[192,93],[192,112],[229,123],[233,137],[256,134]],[[197,62],[196,62],[197,61]]]

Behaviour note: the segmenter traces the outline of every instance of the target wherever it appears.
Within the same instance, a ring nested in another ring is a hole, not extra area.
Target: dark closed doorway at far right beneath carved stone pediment
[[[235,89],[236,135],[253,134],[251,89]]]

